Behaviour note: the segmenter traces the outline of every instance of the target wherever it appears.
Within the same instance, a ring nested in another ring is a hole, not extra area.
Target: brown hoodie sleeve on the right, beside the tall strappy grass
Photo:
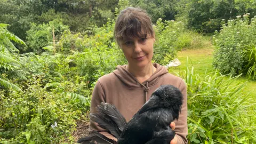
[[[183,95],[183,104],[181,107],[181,113],[179,115],[179,120],[175,120],[175,132],[176,137],[178,139],[178,144],[180,143],[188,143],[187,134],[188,134],[188,125],[187,125],[187,116],[188,116],[188,109],[187,109],[187,85],[181,79],[179,89]]]

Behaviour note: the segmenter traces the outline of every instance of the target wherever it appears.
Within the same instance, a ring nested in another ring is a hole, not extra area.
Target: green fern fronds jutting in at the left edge
[[[21,90],[19,86],[15,85],[10,80],[15,78],[27,79],[25,71],[19,66],[21,65],[18,59],[19,50],[13,45],[12,42],[26,46],[19,37],[11,34],[7,30],[7,24],[0,23],[0,86],[3,89]]]

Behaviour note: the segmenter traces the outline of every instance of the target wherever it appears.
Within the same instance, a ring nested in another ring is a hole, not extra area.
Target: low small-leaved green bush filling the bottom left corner
[[[7,143],[59,143],[73,141],[75,120],[81,111],[74,110],[65,95],[47,92],[33,78],[22,92],[0,95],[0,137]],[[35,91],[36,90],[36,91]]]

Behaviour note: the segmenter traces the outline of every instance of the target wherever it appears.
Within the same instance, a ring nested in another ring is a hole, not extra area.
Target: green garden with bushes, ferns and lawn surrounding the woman
[[[153,62],[188,88],[189,143],[256,143],[256,1],[1,0],[0,143],[75,143],[97,79],[126,62],[113,37],[147,10]]]

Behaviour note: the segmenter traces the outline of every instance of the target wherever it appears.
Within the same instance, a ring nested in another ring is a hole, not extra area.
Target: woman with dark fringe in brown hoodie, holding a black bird
[[[184,97],[179,120],[170,124],[176,132],[171,144],[187,143],[187,87],[181,78],[169,74],[165,67],[151,63],[155,33],[147,13],[139,8],[127,7],[116,20],[114,34],[128,64],[117,66],[113,73],[98,79],[90,113],[95,113],[95,107],[101,102],[108,102],[128,122],[159,86],[171,84],[178,87]],[[116,140],[97,123],[90,122],[90,129]]]

